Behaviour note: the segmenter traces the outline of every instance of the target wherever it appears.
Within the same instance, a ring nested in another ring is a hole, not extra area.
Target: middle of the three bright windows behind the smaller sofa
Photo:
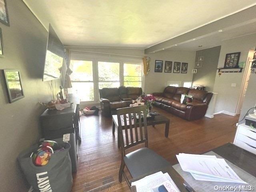
[[[98,62],[99,89],[120,86],[120,63]]]

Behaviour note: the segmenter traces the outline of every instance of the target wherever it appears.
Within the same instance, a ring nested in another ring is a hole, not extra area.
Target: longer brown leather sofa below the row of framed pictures
[[[181,94],[192,95],[193,101],[187,104],[180,103]],[[153,93],[153,95],[156,98],[154,106],[188,121],[202,118],[212,98],[212,93],[204,90],[173,86],[168,86],[164,89],[164,92]]]

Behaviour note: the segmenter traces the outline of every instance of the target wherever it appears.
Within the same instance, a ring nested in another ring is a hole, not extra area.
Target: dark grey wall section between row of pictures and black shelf
[[[204,60],[202,67],[196,68],[197,73],[193,76],[193,85],[205,86],[206,91],[212,92],[220,56],[220,46],[197,51],[196,61],[198,61],[199,56],[203,56]]]

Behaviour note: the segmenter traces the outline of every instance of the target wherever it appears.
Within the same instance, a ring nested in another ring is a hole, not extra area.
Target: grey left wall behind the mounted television
[[[0,23],[4,41],[4,57],[0,57],[0,191],[27,192],[16,158],[40,138],[39,116],[45,108],[38,102],[51,100],[50,82],[42,82],[48,32],[22,0],[8,0],[7,7],[10,26]],[[22,76],[25,97],[11,104],[3,69],[19,69]]]

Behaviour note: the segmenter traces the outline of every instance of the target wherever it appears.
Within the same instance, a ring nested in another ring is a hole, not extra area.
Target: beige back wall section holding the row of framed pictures
[[[196,51],[163,50],[147,56],[150,57],[150,72],[145,77],[145,93],[162,92],[168,81],[192,81],[192,69],[195,64]],[[162,73],[154,72],[155,60],[164,62]],[[164,72],[165,61],[172,61],[171,73]],[[173,73],[174,62],[188,63],[188,73]]]

